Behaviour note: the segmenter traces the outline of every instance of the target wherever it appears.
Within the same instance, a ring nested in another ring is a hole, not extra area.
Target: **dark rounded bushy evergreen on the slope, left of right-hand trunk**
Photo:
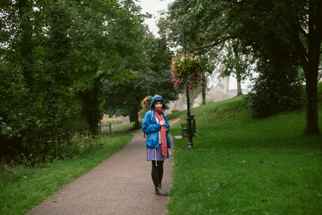
[[[294,66],[297,62],[292,58],[292,47],[267,39],[265,49],[257,63],[259,76],[246,96],[247,107],[257,117],[298,108],[304,101],[303,80]]]

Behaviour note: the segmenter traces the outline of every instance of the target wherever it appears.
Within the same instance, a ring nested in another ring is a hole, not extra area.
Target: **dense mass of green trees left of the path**
[[[51,160],[60,140],[98,134],[102,82],[133,76],[146,15],[133,1],[2,1],[0,10],[0,155]]]

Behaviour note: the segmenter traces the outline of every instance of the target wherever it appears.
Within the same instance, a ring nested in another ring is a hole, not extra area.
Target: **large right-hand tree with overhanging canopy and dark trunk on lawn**
[[[186,27],[190,52],[220,49],[224,41],[235,38],[245,46],[251,46],[254,56],[260,59],[264,59],[269,42],[288,47],[289,63],[296,61],[293,66],[299,64],[305,75],[306,124],[303,135],[320,134],[316,80],[322,53],[321,1],[190,1],[184,9],[170,7],[168,17],[159,21],[160,33],[173,44],[182,44],[179,26],[191,16],[194,18]]]

